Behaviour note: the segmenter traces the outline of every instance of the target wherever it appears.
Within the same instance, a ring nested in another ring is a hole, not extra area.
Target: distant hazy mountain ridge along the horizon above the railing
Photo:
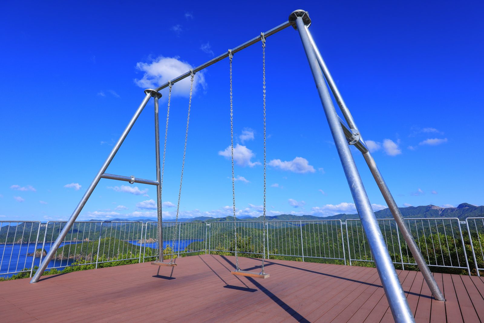
[[[462,203],[457,207],[440,207],[436,205],[421,205],[421,206],[408,206],[399,208],[403,217],[457,217],[460,220],[464,220],[467,217],[484,217],[484,206],[476,206],[469,203]],[[375,212],[375,215],[379,219],[393,218],[390,209],[386,208]],[[293,214],[281,214],[274,216],[266,216],[268,221],[304,221],[304,220],[346,220],[346,219],[359,218],[358,214],[338,214],[331,216],[316,216],[316,215],[293,215]],[[179,218],[179,222],[229,222],[233,221],[233,216],[226,217],[211,217],[211,216],[197,216],[194,218]],[[89,220],[89,221],[105,221],[106,220]],[[136,222],[156,222],[155,218],[135,218],[135,219],[110,219],[107,222],[115,221],[136,221]],[[175,219],[168,219],[165,222],[175,221]],[[237,217],[237,221],[262,221],[262,216],[251,217],[244,215]]]

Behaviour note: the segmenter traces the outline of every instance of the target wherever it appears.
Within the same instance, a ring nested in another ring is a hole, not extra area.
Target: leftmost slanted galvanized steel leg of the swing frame
[[[82,197],[79,204],[77,204],[76,209],[74,210],[73,214],[71,215],[71,217],[69,218],[69,220],[65,224],[64,229],[62,229],[61,233],[59,234],[59,237],[56,239],[54,244],[51,246],[49,252],[47,253],[47,255],[44,258],[44,261],[42,261],[42,263],[39,265],[39,269],[37,269],[37,272],[35,273],[35,275],[30,280],[30,283],[36,283],[36,282],[39,281],[39,278],[44,273],[45,268],[47,268],[47,265],[49,264],[49,262],[52,260],[52,258],[54,258],[54,255],[57,252],[57,248],[59,248],[59,246],[61,245],[65,236],[67,235],[67,233],[71,229],[72,225],[74,224],[74,221],[76,221],[77,216],[79,215],[79,213],[81,213],[82,208],[84,207],[84,205],[88,201],[89,197],[91,196],[92,191],[94,191],[94,188],[96,188],[96,185],[99,183],[99,180],[101,179],[101,177],[103,176],[107,167],[109,166],[109,164],[113,160],[114,156],[116,155],[116,153],[120,149],[121,144],[123,143],[124,139],[126,138],[126,136],[129,133],[129,131],[131,130],[131,128],[135,124],[136,119],[138,119],[139,115],[143,111],[143,108],[145,108],[145,106],[148,103],[148,101],[150,100],[150,98],[151,98],[151,94],[147,94],[145,96],[145,98],[143,99],[143,101],[141,102],[141,104],[139,105],[139,107],[137,108],[135,114],[133,115],[130,122],[128,123],[128,125],[124,129],[123,133],[121,134],[121,137],[118,139],[118,142],[116,142],[116,145],[114,145],[113,150],[111,151],[109,156],[107,156],[106,161],[104,162],[101,169],[99,169],[99,171],[97,172],[97,175],[96,175],[96,177],[94,177],[94,180],[92,180],[92,183],[91,183],[91,185],[89,185],[88,190],[86,191],[86,193],[84,193],[84,196]]]

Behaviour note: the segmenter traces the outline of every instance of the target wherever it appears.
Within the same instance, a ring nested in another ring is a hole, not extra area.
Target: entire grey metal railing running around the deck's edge
[[[472,260],[484,270],[484,217],[408,218],[414,237],[429,266],[465,269],[470,274],[461,223],[469,235]],[[0,221],[0,276],[30,272],[38,265],[65,226],[64,221]],[[307,221],[163,222],[166,256],[193,252],[235,252],[261,256],[301,257],[302,261],[330,259],[373,261],[360,219]],[[346,232],[344,232],[343,224]],[[415,266],[408,246],[393,219],[378,219],[392,261],[403,269]],[[265,230],[264,230],[265,229]],[[346,241],[345,241],[346,238]],[[467,241],[467,237],[466,237]],[[468,246],[469,247],[469,246]],[[75,222],[47,269],[94,265],[111,261],[151,261],[158,256],[157,222]],[[470,255],[469,255],[470,257]]]

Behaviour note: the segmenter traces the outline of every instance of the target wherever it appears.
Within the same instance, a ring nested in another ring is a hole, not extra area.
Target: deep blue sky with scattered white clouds
[[[29,1],[28,1],[29,2]],[[484,204],[482,3],[302,1],[310,31],[399,206]],[[293,2],[0,4],[0,220],[67,219],[143,90],[287,21]],[[262,49],[234,55],[238,215],[261,215]],[[267,39],[267,214],[354,213],[297,31]],[[228,60],[196,76],[181,216],[231,214]],[[173,87],[164,216],[188,108]],[[160,100],[165,130],[166,92]],[[475,120],[472,122],[472,120]],[[371,141],[371,142],[370,142]],[[238,146],[237,146],[238,145]],[[385,202],[354,152],[370,201]],[[156,179],[153,103],[107,172]],[[103,179],[79,219],[153,217],[154,186]]]

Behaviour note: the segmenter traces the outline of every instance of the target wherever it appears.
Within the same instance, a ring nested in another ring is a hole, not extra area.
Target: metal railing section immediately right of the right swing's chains
[[[341,220],[268,221],[269,256],[343,260],[346,264]]]

